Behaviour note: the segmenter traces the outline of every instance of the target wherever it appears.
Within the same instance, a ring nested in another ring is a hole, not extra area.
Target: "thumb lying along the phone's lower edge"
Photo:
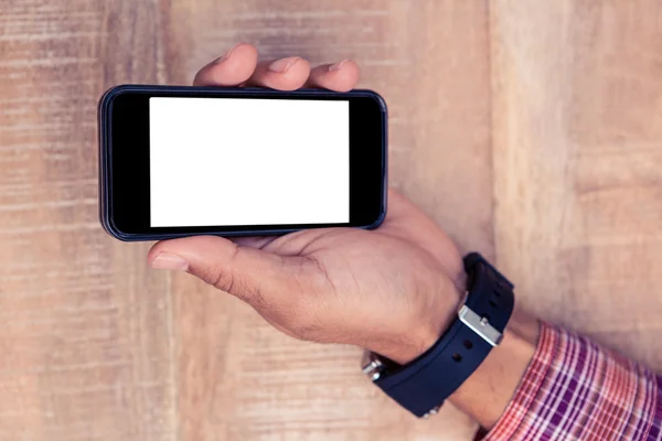
[[[292,260],[299,259],[241,247],[216,236],[160,241],[148,254],[152,268],[186,271],[254,306],[266,300],[264,295],[287,292],[297,268]]]

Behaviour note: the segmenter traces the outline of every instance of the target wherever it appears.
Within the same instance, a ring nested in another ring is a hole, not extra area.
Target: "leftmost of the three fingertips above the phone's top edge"
[[[257,50],[239,43],[197,72],[194,86],[238,86],[250,78],[257,65]]]

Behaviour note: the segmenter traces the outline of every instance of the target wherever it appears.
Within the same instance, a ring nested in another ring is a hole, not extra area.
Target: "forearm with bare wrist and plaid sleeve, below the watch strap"
[[[589,338],[525,314],[450,397],[485,440],[659,440],[660,377]]]

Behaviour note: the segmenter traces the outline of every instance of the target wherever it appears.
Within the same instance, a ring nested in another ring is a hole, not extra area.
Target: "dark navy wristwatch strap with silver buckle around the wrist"
[[[417,417],[437,413],[502,338],[514,306],[514,286],[478,252],[463,259],[467,291],[457,318],[423,355],[397,363],[366,353],[363,373]]]

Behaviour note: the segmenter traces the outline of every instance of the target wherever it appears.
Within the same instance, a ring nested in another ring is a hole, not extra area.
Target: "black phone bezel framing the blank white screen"
[[[345,224],[151,227],[149,212],[149,98],[210,97],[350,101],[350,222]],[[375,228],[386,214],[387,110],[373,90],[280,92],[263,88],[122,85],[99,100],[99,217],[120,240],[192,235],[264,236],[303,228]],[[117,146],[114,144],[117,142]],[[122,176],[117,179],[116,176]]]

